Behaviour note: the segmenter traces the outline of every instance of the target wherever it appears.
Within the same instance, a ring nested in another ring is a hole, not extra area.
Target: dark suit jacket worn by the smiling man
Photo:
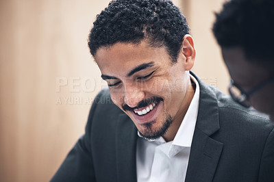
[[[194,76],[200,99],[186,182],[273,182],[273,124]],[[86,133],[51,181],[136,181],[137,137],[132,120],[102,90]]]

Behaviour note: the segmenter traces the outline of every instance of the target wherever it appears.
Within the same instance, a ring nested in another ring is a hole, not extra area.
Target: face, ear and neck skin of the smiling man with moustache
[[[176,66],[165,47],[151,47],[149,40],[119,42],[95,54],[112,101],[145,138],[173,140],[192,100],[194,90],[186,70],[194,64],[195,49],[191,36],[184,38],[182,46],[190,56],[186,60],[180,54]]]

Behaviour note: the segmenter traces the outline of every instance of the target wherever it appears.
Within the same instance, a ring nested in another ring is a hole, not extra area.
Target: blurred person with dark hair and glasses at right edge
[[[274,120],[274,1],[228,1],[213,31],[232,77],[229,88],[241,105]],[[236,90],[236,91],[235,91]]]

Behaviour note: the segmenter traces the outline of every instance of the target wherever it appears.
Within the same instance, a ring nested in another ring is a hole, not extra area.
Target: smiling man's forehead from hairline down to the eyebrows
[[[101,47],[95,55],[101,70],[101,77],[129,78],[135,74],[147,74],[171,59],[163,47],[150,47],[147,42],[140,44],[119,42],[110,47]]]

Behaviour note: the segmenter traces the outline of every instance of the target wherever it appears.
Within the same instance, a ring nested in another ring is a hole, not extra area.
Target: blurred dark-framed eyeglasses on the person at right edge
[[[268,86],[270,83],[274,81],[274,77],[271,79],[268,79],[264,81],[264,83],[260,84],[259,86],[256,86],[255,88],[249,90],[246,92],[245,90],[242,89],[241,86],[239,86],[237,83],[234,82],[233,79],[230,80],[230,85],[229,85],[229,94],[232,96],[232,99],[239,103],[240,105],[244,107],[250,107],[251,103],[249,101],[249,98],[252,94],[258,92],[262,88]]]

